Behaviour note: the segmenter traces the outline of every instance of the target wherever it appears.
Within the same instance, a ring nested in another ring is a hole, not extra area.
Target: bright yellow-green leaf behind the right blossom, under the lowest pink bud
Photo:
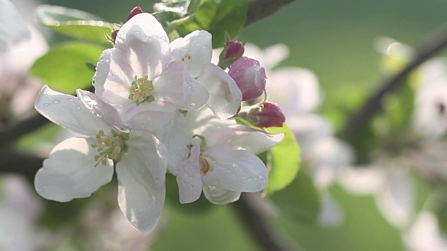
[[[284,133],[282,142],[270,150],[272,164],[265,192],[267,195],[271,195],[275,191],[284,189],[298,173],[300,146],[286,123],[282,128],[269,128],[268,130],[274,133]]]

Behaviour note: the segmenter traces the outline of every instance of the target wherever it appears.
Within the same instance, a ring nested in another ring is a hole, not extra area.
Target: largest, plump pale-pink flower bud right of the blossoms
[[[254,59],[237,59],[231,64],[228,74],[239,86],[244,101],[258,98],[265,91],[265,69]]]

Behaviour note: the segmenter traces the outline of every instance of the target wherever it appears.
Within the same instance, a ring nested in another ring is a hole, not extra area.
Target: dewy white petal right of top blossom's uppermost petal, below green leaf
[[[203,67],[211,62],[211,39],[207,31],[193,31],[184,38],[173,40],[170,43],[173,59],[186,63],[191,77],[197,77]]]

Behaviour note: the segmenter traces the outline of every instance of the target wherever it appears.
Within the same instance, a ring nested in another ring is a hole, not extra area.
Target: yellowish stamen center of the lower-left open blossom
[[[103,130],[100,130],[96,134],[96,142],[91,144],[91,147],[98,151],[94,159],[96,161],[95,167],[101,162],[103,165],[106,163],[106,159],[119,160],[122,158],[123,153],[127,151],[126,139],[127,134],[117,134],[112,131],[111,135],[105,135]]]

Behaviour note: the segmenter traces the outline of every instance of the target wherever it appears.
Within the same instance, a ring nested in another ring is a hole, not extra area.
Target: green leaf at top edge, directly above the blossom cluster
[[[239,35],[247,20],[248,0],[205,0],[195,14],[189,15],[188,22],[176,29],[180,36],[186,36],[195,30],[206,30],[212,33],[212,47],[222,47],[225,32],[232,39]],[[175,22],[173,22],[175,25]]]

